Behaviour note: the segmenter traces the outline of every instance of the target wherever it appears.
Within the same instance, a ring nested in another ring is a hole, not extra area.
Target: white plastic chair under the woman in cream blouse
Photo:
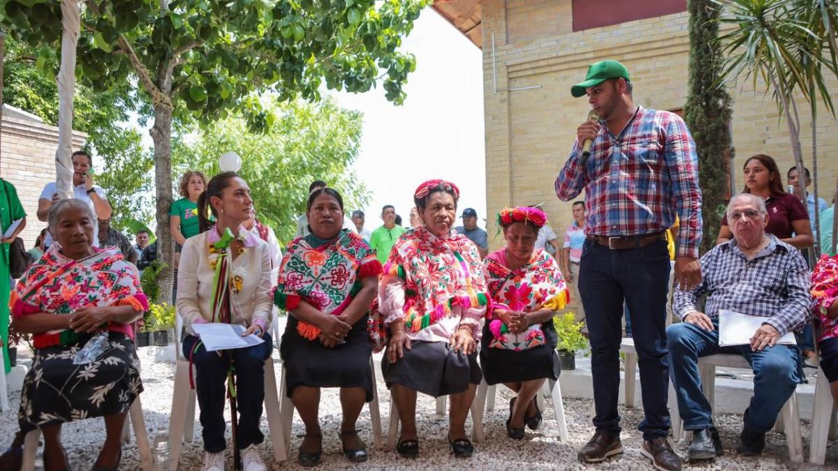
[[[174,367],[174,391],[172,394],[172,412],[168,422],[168,468],[172,471],[178,468],[180,448],[184,439],[194,440],[195,429],[195,391],[189,386],[189,359],[184,358],[180,347],[180,334],[183,319],[175,316],[175,355],[177,361]],[[273,359],[268,356],[265,360],[265,413],[271,443],[273,458],[277,462],[285,461],[288,457],[286,441],[282,438],[282,416],[277,396],[277,376],[273,370]],[[185,407],[184,407],[185,405]]]

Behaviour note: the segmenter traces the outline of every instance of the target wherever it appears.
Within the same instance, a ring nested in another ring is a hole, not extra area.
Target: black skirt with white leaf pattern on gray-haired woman
[[[111,332],[105,351],[87,365],[73,365],[90,335],[72,345],[35,351],[23,379],[18,420],[23,430],[118,414],[142,392],[139,359],[127,335]]]

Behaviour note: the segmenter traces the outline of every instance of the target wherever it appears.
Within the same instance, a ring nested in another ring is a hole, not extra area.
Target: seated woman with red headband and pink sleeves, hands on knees
[[[413,195],[423,225],[401,235],[379,287],[380,312],[391,339],[381,371],[401,420],[396,451],[416,457],[416,392],[451,396],[448,442],[458,457],[473,453],[465,432],[468,408],[482,379],[476,339],[488,296],[477,246],[453,231],[457,186],[421,184]]]

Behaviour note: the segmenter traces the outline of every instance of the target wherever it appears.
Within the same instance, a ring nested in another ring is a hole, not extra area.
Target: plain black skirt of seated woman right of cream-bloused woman
[[[297,333],[297,318],[288,316],[285,334],[279,344],[286,391],[291,397],[297,386],[362,387],[366,401],[372,401],[373,380],[370,370],[372,342],[364,316],[353,324],[344,344],[327,349],[319,340],[309,340]]]

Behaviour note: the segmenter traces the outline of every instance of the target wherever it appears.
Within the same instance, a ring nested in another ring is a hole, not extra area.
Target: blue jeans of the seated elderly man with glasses
[[[700,430],[713,425],[710,403],[701,392],[698,358],[737,354],[751,364],[754,375],[753,397],[745,411],[745,428],[752,432],[768,432],[800,382],[797,346],[774,345],[759,352],[752,352],[750,345],[720,347],[718,318],[713,318],[713,325],[716,330],[712,332],[685,322],[674,323],[666,329],[670,373],[684,430]]]

